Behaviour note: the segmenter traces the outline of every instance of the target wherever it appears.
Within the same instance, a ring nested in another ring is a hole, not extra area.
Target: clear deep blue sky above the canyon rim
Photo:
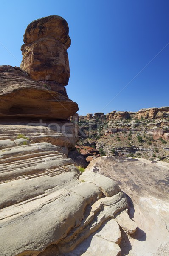
[[[48,15],[69,25],[79,114],[169,105],[169,0],[2,0],[0,65],[20,66],[27,25]]]

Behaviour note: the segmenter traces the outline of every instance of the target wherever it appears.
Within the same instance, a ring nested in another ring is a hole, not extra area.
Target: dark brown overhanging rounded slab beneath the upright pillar
[[[68,119],[78,105],[17,67],[0,66],[0,117]]]

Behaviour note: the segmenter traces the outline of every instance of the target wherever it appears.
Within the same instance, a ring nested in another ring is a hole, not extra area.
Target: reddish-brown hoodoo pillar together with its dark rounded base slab
[[[68,119],[78,105],[68,99],[68,24],[59,16],[28,25],[21,68],[0,66],[0,117]]]

